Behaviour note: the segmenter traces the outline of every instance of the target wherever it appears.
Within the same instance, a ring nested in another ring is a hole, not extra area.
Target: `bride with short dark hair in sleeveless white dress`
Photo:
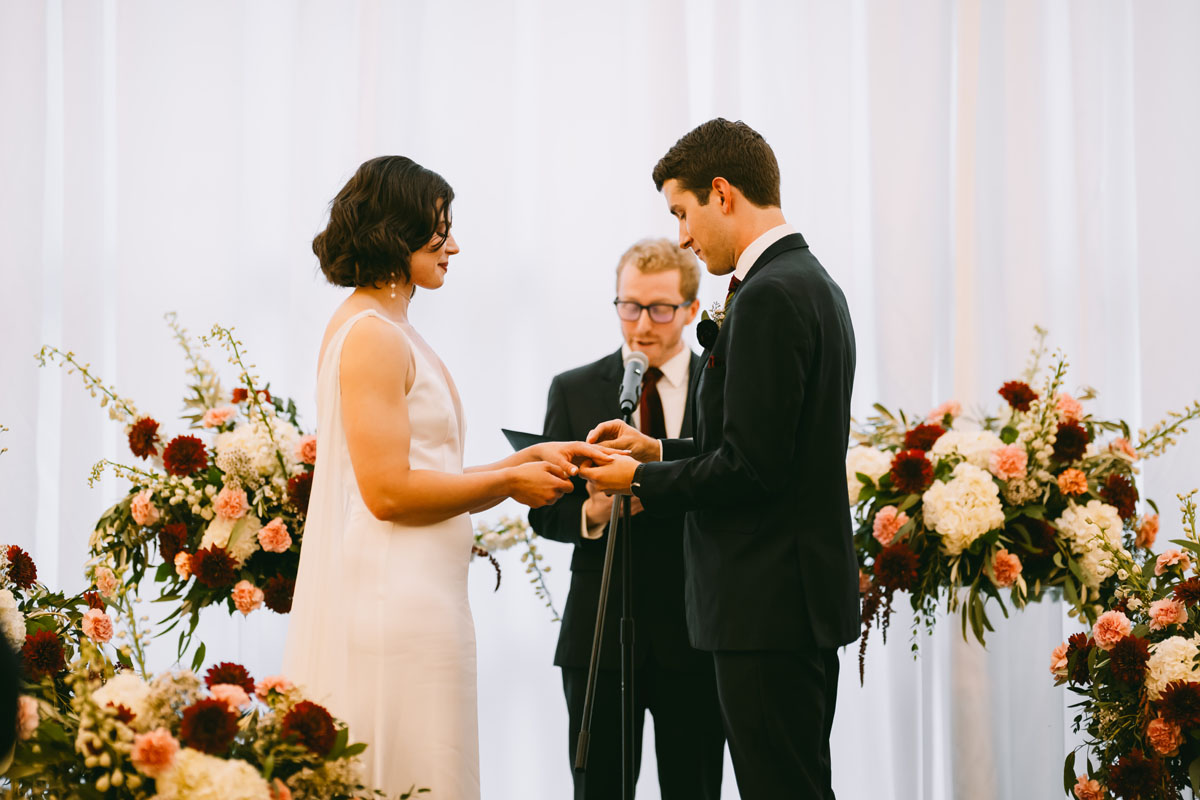
[[[452,199],[412,160],[373,158],[313,240],[325,277],[353,291],[318,360],[318,457],[284,674],[367,742],[370,786],[475,800],[469,515],[506,498],[553,503],[577,463],[608,451],[554,443],[463,469],[458,392],[408,321],[415,289],[442,287],[458,252]]]

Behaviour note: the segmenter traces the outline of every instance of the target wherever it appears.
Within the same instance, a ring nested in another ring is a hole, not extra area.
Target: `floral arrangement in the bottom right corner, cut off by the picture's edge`
[[[1092,759],[1076,775],[1067,757],[1064,789],[1078,800],[1165,800],[1200,789],[1200,531],[1195,492],[1180,495],[1184,539],[1160,555],[1130,558],[1114,547],[1118,583],[1090,633],[1050,657],[1057,685],[1082,699],[1075,732]]]

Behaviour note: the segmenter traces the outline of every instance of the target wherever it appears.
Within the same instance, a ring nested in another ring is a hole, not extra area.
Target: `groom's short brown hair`
[[[760,207],[779,206],[779,162],[752,127],[722,118],[700,125],[674,143],[654,167],[654,188],[668,180],[708,204],[713,179],[724,178]]]

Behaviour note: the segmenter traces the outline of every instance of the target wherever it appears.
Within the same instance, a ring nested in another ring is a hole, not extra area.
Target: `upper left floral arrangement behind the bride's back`
[[[125,423],[130,452],[144,462],[102,461],[92,469],[91,483],[108,469],[132,486],[96,524],[89,573],[97,584],[122,585],[149,573],[161,584],[157,600],[175,602],[162,632],[190,618],[182,654],[202,608],[292,609],[317,441],[300,428],[295,403],[272,397],[253,373],[230,329],[216,325],[199,343],[218,343],[236,367],[238,386],[227,393],[174,314],[167,320],[190,363],[190,429],[169,439],[73,353],[43,347],[37,357],[78,372],[109,416]]]

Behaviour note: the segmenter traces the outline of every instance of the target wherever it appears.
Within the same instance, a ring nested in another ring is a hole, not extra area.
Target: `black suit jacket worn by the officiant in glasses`
[[[694,354],[689,375],[698,373],[702,363],[702,359]],[[582,440],[600,422],[619,417],[617,399],[623,374],[624,363],[620,350],[617,350],[599,361],[556,375],[546,401],[545,434],[559,441]],[[683,416],[683,435],[691,432],[691,420],[692,402],[689,396]],[[583,503],[587,499],[584,482],[575,479],[574,492],[553,505],[529,512],[529,523],[540,536],[575,545],[571,589],[554,652],[557,667],[586,668],[595,633],[607,536],[596,540],[581,536]],[[653,657],[668,669],[712,669],[712,656],[688,644],[683,608],[683,515],[643,511],[635,515],[632,522],[634,619],[637,625],[634,655],[637,663]],[[617,540],[618,558],[612,571],[604,643],[600,649],[600,666],[606,669],[620,666],[619,557],[625,541],[624,536]]]

